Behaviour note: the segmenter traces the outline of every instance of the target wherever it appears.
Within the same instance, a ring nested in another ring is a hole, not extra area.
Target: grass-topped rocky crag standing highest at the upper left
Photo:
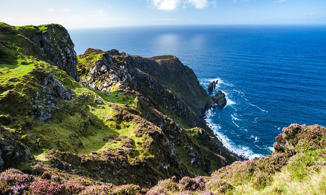
[[[9,34],[12,39],[0,38],[0,63],[7,63],[10,59],[17,58],[17,54],[9,52],[13,49],[10,41],[15,41],[19,53],[26,56],[34,56],[39,60],[57,66],[66,71],[76,81],[77,75],[77,55],[74,50],[74,44],[68,34],[68,31],[59,24],[47,24],[40,26],[10,26],[0,23],[1,32]],[[22,55],[19,55],[22,58]],[[11,62],[10,62],[11,63]]]

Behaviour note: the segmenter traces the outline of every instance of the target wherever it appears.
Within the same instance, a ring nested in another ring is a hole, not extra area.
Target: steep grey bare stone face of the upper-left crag
[[[43,33],[25,36],[38,47],[37,51],[43,56],[40,59],[59,67],[76,81],[79,81],[75,45],[68,31],[58,24],[49,24],[46,27],[48,29]]]

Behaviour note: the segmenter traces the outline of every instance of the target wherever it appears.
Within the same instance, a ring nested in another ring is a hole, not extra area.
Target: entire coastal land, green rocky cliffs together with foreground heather
[[[0,23],[2,194],[325,193],[324,127],[292,124],[272,155],[236,161],[176,56],[73,48],[61,25]]]

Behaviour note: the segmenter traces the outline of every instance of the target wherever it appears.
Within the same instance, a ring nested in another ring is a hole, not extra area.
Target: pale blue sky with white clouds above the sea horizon
[[[326,0],[0,0],[0,5],[0,22],[15,26],[326,24]]]

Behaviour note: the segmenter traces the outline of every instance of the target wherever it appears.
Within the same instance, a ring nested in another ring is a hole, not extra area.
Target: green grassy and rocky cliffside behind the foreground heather
[[[2,170],[151,187],[172,176],[209,175],[235,160],[176,89],[126,59],[144,68],[159,65],[155,60],[90,49],[77,66],[60,25],[0,28]],[[190,70],[172,63],[175,71]],[[187,78],[197,82],[193,94],[204,92],[193,72]]]

